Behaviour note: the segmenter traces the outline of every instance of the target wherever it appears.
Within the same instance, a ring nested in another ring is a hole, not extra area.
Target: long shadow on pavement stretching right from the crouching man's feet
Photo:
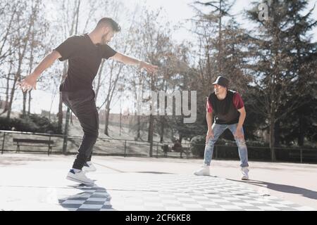
[[[285,185],[285,184],[274,184],[274,183],[269,183],[266,181],[256,181],[256,180],[248,180],[248,181],[240,181],[240,180],[234,180],[234,179],[227,179],[229,181],[239,181],[242,183],[247,183],[251,184],[254,186],[260,186],[263,188],[268,188],[274,191],[280,191],[283,193],[293,193],[297,195],[302,195],[305,198],[311,198],[316,200],[317,199],[317,192],[316,191],[311,191],[306,188],[299,188],[296,186],[290,186],[290,185]]]

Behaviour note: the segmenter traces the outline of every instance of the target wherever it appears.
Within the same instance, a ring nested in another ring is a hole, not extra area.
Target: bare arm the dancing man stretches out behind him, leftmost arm
[[[49,53],[45,58],[37,65],[37,68],[30,74],[23,79],[22,82],[18,83],[18,85],[21,87],[23,91],[28,91],[30,89],[37,89],[37,79],[39,76],[49,68],[56,59],[61,58],[61,54],[58,53],[58,51],[52,51]]]

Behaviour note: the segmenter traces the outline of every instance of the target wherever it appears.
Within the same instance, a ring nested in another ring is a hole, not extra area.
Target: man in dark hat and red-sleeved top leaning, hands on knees
[[[213,146],[225,129],[230,129],[238,146],[242,179],[249,179],[249,164],[247,145],[244,140],[243,123],[246,111],[239,93],[228,89],[229,80],[219,76],[213,83],[214,92],[210,94],[206,103],[206,120],[208,132],[204,165],[194,172],[197,176],[209,176],[209,166],[213,155]],[[212,123],[213,120],[213,123]]]

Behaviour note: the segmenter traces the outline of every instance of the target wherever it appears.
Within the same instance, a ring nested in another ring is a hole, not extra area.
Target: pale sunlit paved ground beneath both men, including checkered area
[[[0,210],[317,210],[317,165],[94,157],[95,186],[65,179],[74,156],[0,155]]]

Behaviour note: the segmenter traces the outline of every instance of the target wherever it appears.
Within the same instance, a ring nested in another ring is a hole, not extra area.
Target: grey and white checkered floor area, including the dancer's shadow
[[[71,211],[314,210],[216,176],[107,174],[96,184],[73,186],[78,193],[58,199],[59,204]]]

